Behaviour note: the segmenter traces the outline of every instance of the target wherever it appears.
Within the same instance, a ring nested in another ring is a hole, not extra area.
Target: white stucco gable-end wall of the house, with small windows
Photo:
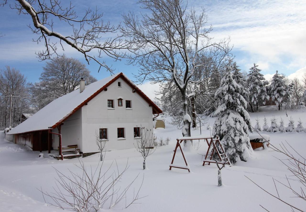
[[[118,87],[118,81],[121,87]],[[86,89],[86,88],[85,88]],[[118,106],[118,97],[123,98],[123,106]],[[114,109],[107,107],[107,100],[114,100]],[[132,109],[125,108],[125,100],[132,101]],[[109,87],[93,98],[88,105],[81,108],[82,146],[84,153],[97,152],[95,142],[96,131],[107,128],[108,142],[106,151],[134,148],[134,127],[142,127],[153,131],[152,107],[132,88],[119,78]],[[65,124],[64,124],[65,125]],[[125,128],[125,140],[118,140],[117,128]]]

